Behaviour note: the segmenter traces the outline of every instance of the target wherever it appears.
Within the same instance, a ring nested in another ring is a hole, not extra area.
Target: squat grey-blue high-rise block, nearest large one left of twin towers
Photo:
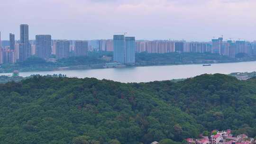
[[[86,56],[88,51],[87,41],[75,41],[74,54],[75,56]]]

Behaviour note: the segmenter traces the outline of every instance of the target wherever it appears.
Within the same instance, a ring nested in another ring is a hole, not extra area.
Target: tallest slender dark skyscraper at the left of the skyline
[[[28,41],[28,25],[22,24],[20,28],[19,61],[25,61],[31,55],[31,48]]]

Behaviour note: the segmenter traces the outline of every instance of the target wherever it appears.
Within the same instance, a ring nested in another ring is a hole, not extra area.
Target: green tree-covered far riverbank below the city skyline
[[[40,72],[162,65],[239,63],[256,61],[256,57],[244,56],[231,58],[228,56],[210,53],[137,53],[136,63],[134,65],[116,65],[112,62],[112,56],[112,52],[90,52],[86,57],[69,57],[66,59],[57,60],[56,62],[48,62],[38,57],[30,57],[21,63],[18,62],[15,64],[2,64],[0,66],[0,73],[10,73],[15,70],[18,70],[19,72]]]

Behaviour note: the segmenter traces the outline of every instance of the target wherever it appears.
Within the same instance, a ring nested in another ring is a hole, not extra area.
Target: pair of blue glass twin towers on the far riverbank
[[[114,35],[114,61],[135,63],[135,37]]]

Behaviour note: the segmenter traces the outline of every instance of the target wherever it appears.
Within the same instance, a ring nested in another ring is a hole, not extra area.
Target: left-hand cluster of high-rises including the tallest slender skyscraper
[[[28,25],[22,24],[19,28],[18,41],[15,40],[14,34],[9,34],[9,41],[1,41],[0,33],[0,64],[23,62],[31,56],[47,61],[70,56],[87,56],[88,41],[53,40],[51,35],[36,35],[35,40],[29,40]]]

